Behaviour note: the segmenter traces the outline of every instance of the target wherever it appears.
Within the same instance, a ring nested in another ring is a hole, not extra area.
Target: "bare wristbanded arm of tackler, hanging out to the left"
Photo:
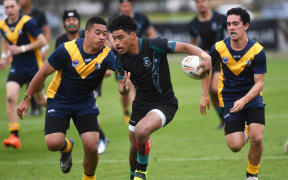
[[[53,73],[54,71],[55,69],[48,62],[46,62],[41,67],[41,69],[36,73],[36,75],[32,79],[26,91],[24,98],[22,99],[21,103],[17,107],[17,115],[21,119],[23,119],[23,114],[26,114],[29,109],[29,102],[30,102],[31,97],[39,88],[42,87],[47,76]]]

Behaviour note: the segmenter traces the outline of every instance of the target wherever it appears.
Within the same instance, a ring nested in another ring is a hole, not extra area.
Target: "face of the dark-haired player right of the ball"
[[[249,24],[243,24],[240,15],[231,14],[227,17],[227,30],[231,40],[238,40],[246,35]]]

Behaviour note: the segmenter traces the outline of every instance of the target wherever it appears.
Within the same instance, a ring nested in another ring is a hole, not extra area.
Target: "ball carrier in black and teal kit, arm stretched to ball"
[[[201,66],[205,70],[211,69],[211,57],[190,44],[162,38],[138,38],[136,29],[137,25],[130,16],[118,16],[109,24],[109,31],[113,33],[119,53],[117,71],[120,75],[128,72],[128,77],[131,77],[136,87],[129,121],[130,178],[145,180],[151,148],[150,135],[171,122],[178,109],[167,54],[198,55],[203,58]],[[208,91],[208,88],[205,90]]]

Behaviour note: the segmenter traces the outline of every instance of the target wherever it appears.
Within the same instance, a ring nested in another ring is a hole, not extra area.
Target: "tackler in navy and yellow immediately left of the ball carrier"
[[[18,106],[22,118],[29,108],[30,97],[46,77],[56,71],[47,94],[45,140],[49,150],[60,151],[63,173],[72,167],[73,141],[66,138],[70,118],[81,136],[84,148],[84,173],[82,180],[96,179],[98,163],[99,113],[93,91],[102,81],[105,71],[115,70],[115,56],[105,45],[106,22],[92,17],[85,27],[85,38],[61,44],[48,58],[31,81],[26,95]]]

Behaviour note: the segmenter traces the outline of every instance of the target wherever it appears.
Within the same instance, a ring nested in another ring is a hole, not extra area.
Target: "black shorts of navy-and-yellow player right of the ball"
[[[247,125],[258,123],[265,125],[265,110],[263,107],[248,108],[237,113],[230,113],[230,109],[225,109],[223,113],[225,123],[225,134],[243,132],[245,122]]]

